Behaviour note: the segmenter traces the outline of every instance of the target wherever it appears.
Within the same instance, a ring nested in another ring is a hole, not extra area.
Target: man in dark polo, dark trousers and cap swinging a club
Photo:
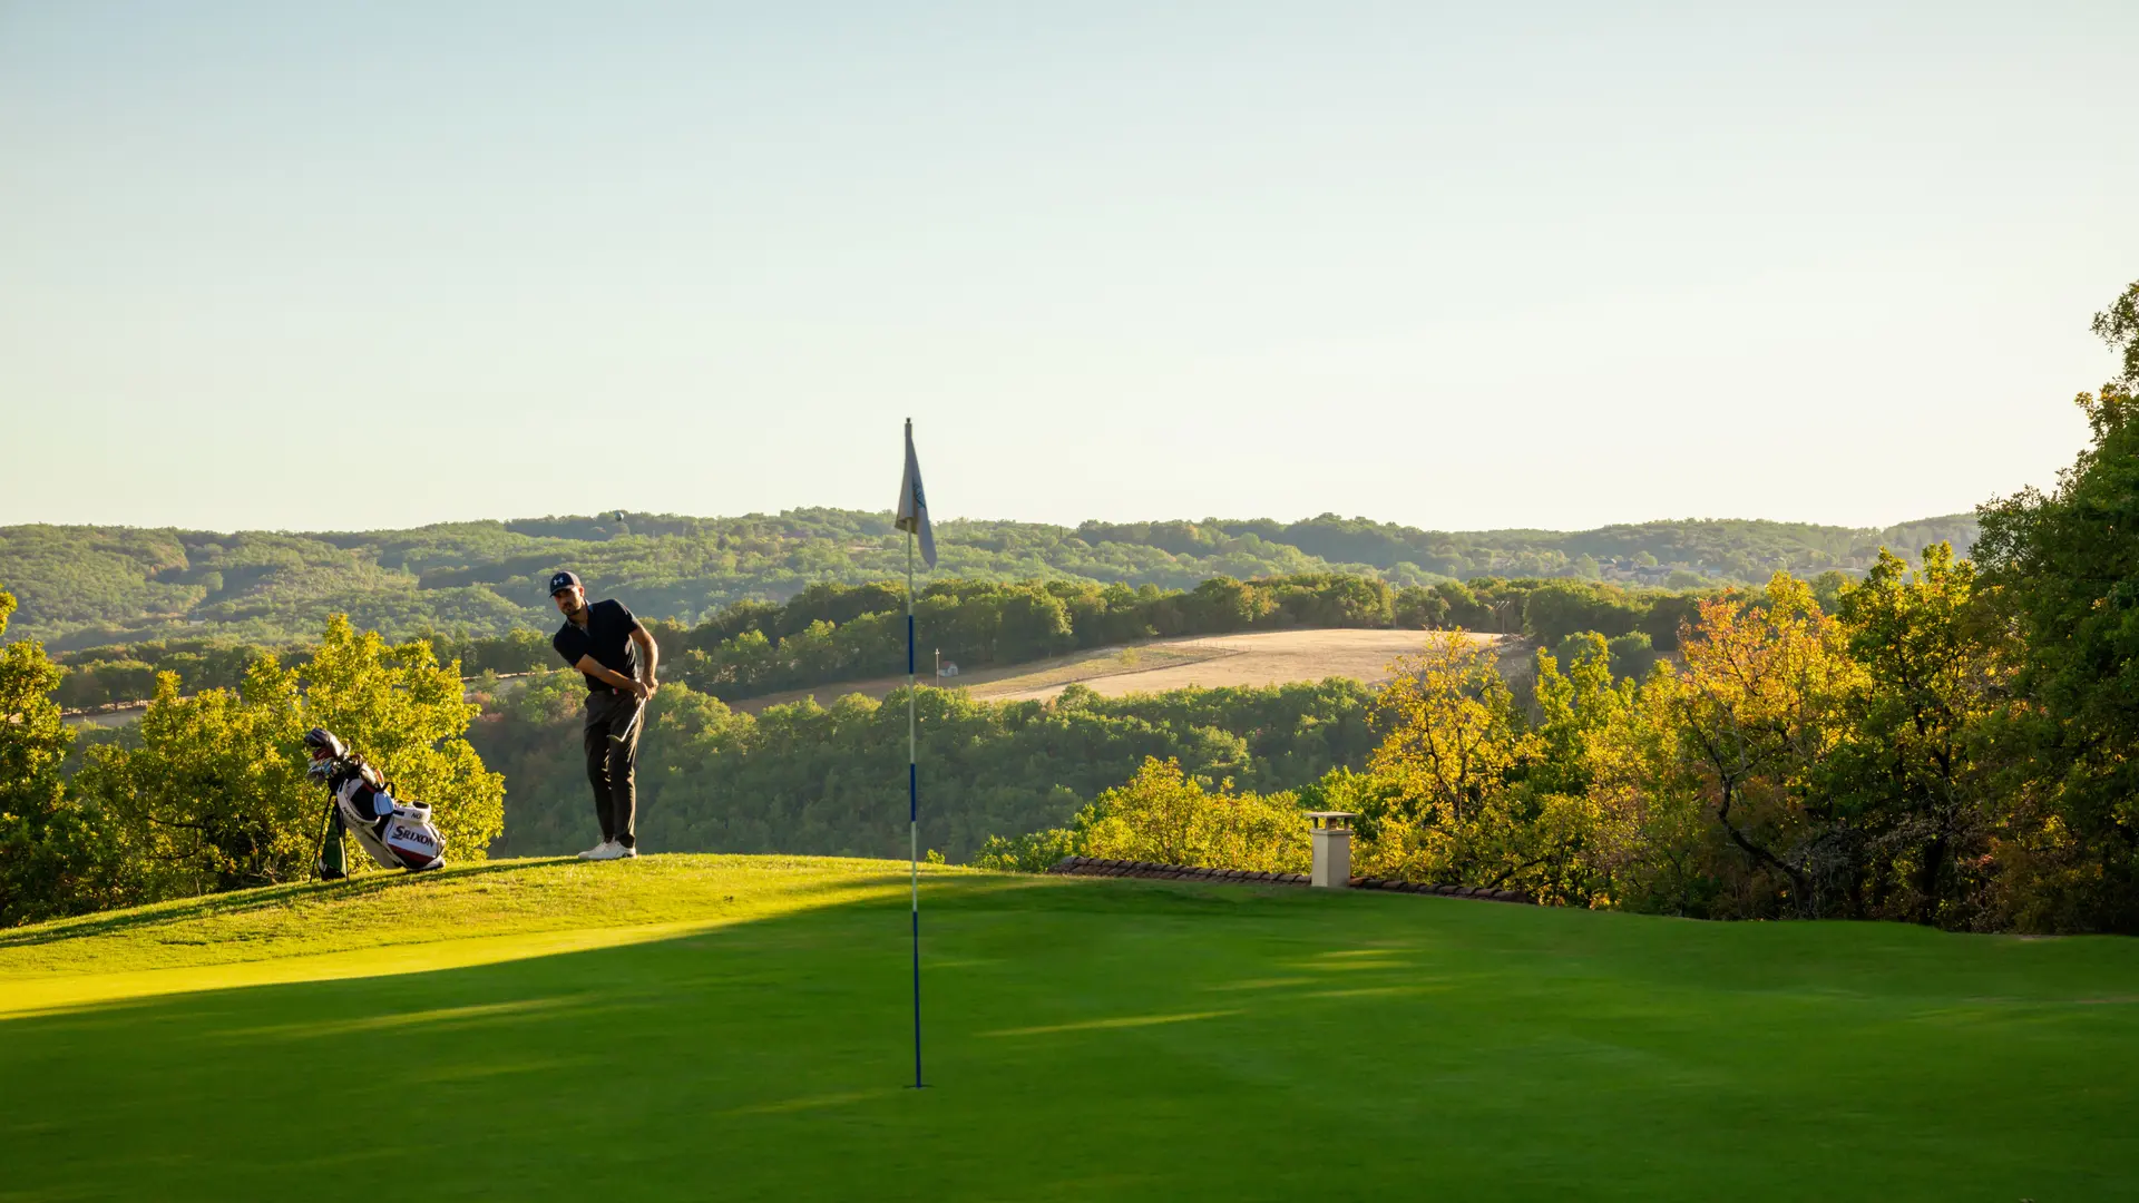
[[[622,602],[588,606],[586,587],[569,572],[550,578],[550,599],[565,614],[550,646],[586,676],[582,738],[601,843],[582,852],[580,861],[625,861],[640,854],[640,839],[631,831],[640,801],[633,768],[640,760],[640,715],[657,689],[659,649]]]

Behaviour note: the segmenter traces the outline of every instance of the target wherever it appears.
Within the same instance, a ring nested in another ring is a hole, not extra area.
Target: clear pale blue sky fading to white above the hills
[[[2139,4],[0,0],[0,524],[1880,527],[2053,484]]]

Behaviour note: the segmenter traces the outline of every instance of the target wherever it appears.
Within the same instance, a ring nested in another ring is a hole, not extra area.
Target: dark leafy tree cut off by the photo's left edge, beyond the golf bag
[[[0,636],[15,595],[0,591]],[[105,816],[66,796],[75,732],[51,700],[64,670],[36,640],[0,644],[0,927],[126,899]]]

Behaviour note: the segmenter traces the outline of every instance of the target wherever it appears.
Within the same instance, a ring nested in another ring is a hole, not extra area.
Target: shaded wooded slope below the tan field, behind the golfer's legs
[[[471,730],[511,783],[494,854],[578,852],[599,839],[580,758],[584,687],[569,672],[501,696]],[[1288,790],[1373,749],[1371,694],[1356,681],[1268,689],[1179,689],[1052,702],[918,696],[922,843],[967,861],[995,833],[1067,822],[1153,756],[1251,790]],[[905,691],[849,694],[761,715],[663,685],[642,743],[640,839],[665,852],[903,856]]]

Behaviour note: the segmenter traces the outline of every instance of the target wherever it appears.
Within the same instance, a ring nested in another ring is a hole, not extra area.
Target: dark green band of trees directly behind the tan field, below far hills
[[[1840,589],[1840,574],[1829,574]],[[1196,589],[1087,584],[1074,580],[935,580],[915,599],[922,649],[965,668],[1007,666],[1072,651],[1166,636],[1286,627],[1410,627],[1525,634],[1559,644],[1602,631],[1624,674],[1638,674],[1677,646],[1694,593],[1621,589],[1587,580],[1446,580],[1390,589],[1348,574],[1264,580],[1215,578]],[[464,676],[556,668],[550,627],[503,638],[424,634]],[[813,584],[785,604],[738,602],[687,627],[648,619],[667,674],[723,700],[890,676],[905,670],[905,591],[894,582]],[[62,706],[148,698],[158,672],[182,691],[235,687],[267,649],[169,640],[62,655]],[[304,649],[282,649],[284,666]]]

